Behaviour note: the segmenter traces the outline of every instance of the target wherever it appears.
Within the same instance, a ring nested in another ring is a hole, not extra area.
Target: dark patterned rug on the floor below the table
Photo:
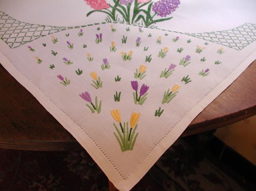
[[[0,149],[1,191],[107,191],[108,179],[86,151]],[[132,162],[132,161],[131,161]],[[244,191],[193,147],[178,140],[132,191]]]

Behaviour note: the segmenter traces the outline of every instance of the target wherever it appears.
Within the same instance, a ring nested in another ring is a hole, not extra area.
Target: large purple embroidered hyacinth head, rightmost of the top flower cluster
[[[156,12],[158,16],[166,17],[178,8],[180,0],[160,0],[155,2],[152,6],[152,11]]]

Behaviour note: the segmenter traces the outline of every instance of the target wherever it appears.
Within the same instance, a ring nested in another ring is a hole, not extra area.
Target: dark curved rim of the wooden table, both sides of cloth
[[[215,118],[214,120],[206,120],[200,124],[189,125],[180,137],[191,136],[202,132],[202,127],[206,131],[212,131],[214,129],[233,124],[235,122],[249,118],[256,115],[256,106],[241,110],[232,115],[222,116]],[[195,126],[195,128],[193,128]],[[205,131],[205,132],[206,132]],[[78,151],[83,147],[76,141],[33,141],[33,140],[13,140],[13,139],[0,139],[0,148],[6,149],[20,149],[30,151]]]

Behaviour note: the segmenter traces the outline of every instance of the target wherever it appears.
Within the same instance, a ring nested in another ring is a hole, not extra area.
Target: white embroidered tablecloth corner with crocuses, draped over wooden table
[[[2,0],[0,8],[0,63],[119,190],[256,58],[252,0]]]

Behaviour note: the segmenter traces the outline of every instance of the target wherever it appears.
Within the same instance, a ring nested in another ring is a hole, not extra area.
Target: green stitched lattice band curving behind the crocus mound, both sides
[[[94,25],[98,24],[100,23],[95,23]],[[106,24],[106,22],[102,22],[101,24]],[[11,16],[7,15],[6,13],[0,11],[0,38],[4,40],[4,42],[6,42],[11,48],[19,47],[20,45],[31,42],[37,38],[40,38],[41,36],[50,35],[52,33],[57,33],[59,31],[64,31],[67,29],[85,26],[86,25],[75,27],[57,27],[30,24],[16,20]],[[228,46],[236,50],[241,50],[256,40],[256,24],[245,23],[239,27],[226,31],[181,34],[194,36],[210,42]]]

